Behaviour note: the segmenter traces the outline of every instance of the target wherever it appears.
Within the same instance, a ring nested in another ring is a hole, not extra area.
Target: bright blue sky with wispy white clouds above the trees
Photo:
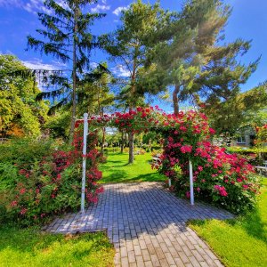
[[[63,2],[59,0],[58,2]],[[147,2],[147,1],[143,1]],[[154,3],[151,0],[150,3]],[[266,79],[267,61],[267,1],[266,0],[227,0],[233,7],[233,12],[225,29],[226,42],[231,42],[238,37],[253,40],[252,48],[242,62],[254,61],[262,55],[262,60],[255,74],[250,77],[246,91]],[[0,53],[13,53],[29,68],[62,69],[59,62],[50,57],[41,56],[33,51],[25,51],[27,47],[26,36],[36,36],[36,28],[40,28],[37,12],[44,12],[42,0],[0,0]],[[92,6],[92,11],[106,12],[107,17],[95,23],[93,33],[101,34],[117,27],[120,11],[130,0],[99,0]],[[169,10],[179,10],[182,0],[161,0],[161,5]],[[98,53],[93,53],[93,61],[102,58]],[[63,66],[64,67],[64,66]],[[117,69],[124,74],[123,69]]]

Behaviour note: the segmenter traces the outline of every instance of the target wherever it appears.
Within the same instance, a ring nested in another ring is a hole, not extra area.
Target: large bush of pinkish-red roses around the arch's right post
[[[190,198],[189,160],[193,165],[195,198],[239,214],[255,206],[259,184],[254,167],[237,154],[227,154],[208,140],[214,130],[204,115],[173,117],[177,124],[164,134],[161,174],[171,179],[180,197]]]

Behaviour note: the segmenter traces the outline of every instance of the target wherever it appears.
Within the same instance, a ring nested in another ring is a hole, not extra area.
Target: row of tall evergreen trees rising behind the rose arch
[[[134,109],[145,104],[148,94],[172,91],[174,113],[184,101],[201,107],[220,132],[234,132],[267,100],[266,85],[240,93],[240,85],[255,71],[259,59],[248,65],[240,62],[250,42],[237,39],[225,43],[223,29],[231,7],[223,0],[187,0],[180,12],[169,12],[156,4],[137,0],[122,12],[120,26],[111,33],[93,36],[91,26],[105,14],[90,13],[93,0],[68,0],[64,7],[45,0],[49,14],[39,13],[44,29],[39,38],[28,36],[28,47],[69,63],[68,75],[62,71],[42,72],[53,90],[39,99],[58,96],[52,110],[65,106],[71,110],[70,137],[75,117],[83,112],[104,113],[107,106]],[[130,74],[112,77],[106,63],[96,69],[90,64],[92,49],[101,48]],[[117,95],[110,93],[117,85]],[[251,97],[253,96],[253,97]],[[104,133],[103,130],[103,141]],[[134,160],[134,134],[129,135],[129,162]]]

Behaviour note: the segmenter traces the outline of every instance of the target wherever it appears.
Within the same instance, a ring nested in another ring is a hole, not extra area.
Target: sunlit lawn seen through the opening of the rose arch
[[[151,153],[135,155],[134,164],[128,164],[128,154],[109,152],[107,163],[102,164],[100,169],[103,173],[101,183],[107,182],[163,182],[164,175],[151,169]]]

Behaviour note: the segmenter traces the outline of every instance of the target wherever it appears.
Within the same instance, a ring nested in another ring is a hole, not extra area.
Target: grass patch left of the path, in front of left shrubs
[[[0,266],[113,266],[114,248],[102,232],[75,236],[0,228]]]

